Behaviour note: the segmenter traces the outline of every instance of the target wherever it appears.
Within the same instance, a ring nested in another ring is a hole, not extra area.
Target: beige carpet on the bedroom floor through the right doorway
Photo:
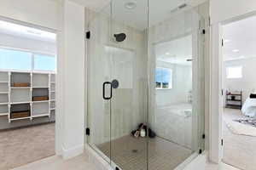
[[[241,111],[225,109],[224,122],[243,119]],[[248,125],[249,126],[249,125]],[[256,169],[256,137],[232,133],[224,123],[224,163],[243,170]]]

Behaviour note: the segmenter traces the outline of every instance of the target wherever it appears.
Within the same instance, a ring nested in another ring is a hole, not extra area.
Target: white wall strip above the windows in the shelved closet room
[[[0,47],[18,48],[46,54],[56,54],[56,43],[0,33]]]

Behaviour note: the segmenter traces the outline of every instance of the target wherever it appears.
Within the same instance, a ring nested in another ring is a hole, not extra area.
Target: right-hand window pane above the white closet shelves
[[[34,70],[55,71],[56,70],[55,56],[35,54],[34,55]]]

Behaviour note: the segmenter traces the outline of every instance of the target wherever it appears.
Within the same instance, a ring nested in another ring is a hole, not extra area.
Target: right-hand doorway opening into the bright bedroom
[[[222,26],[223,57],[222,82],[224,97],[222,161],[244,170],[255,169],[256,157],[256,64],[255,15]]]

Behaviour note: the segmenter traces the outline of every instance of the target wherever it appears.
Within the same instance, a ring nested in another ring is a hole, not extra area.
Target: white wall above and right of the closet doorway
[[[57,33],[56,154],[84,148],[84,7],[63,0],[2,0],[0,16]]]

